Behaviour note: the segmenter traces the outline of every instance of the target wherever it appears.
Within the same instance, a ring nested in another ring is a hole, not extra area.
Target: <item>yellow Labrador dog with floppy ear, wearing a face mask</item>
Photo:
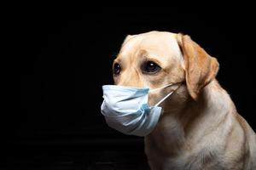
[[[216,75],[218,60],[188,35],[149,31],[125,37],[113,61],[115,85],[159,88],[180,82],[145,138],[152,170],[256,169],[256,135]],[[172,87],[148,95],[154,105]]]

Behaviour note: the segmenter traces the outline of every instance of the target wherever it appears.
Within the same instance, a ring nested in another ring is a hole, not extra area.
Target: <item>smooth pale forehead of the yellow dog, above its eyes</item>
[[[125,38],[120,54],[133,54],[138,50],[160,53],[179,57],[181,55],[177,44],[177,34],[166,31],[149,31]]]

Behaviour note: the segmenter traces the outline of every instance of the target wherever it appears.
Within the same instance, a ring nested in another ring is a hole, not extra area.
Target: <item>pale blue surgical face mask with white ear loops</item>
[[[168,84],[161,88],[149,90],[149,88],[131,88],[125,86],[105,85],[103,89],[102,115],[109,127],[113,127],[121,133],[136,136],[146,136],[156,126],[162,103],[175,90],[172,90],[163,99],[154,105],[148,105],[148,93],[170,87]]]

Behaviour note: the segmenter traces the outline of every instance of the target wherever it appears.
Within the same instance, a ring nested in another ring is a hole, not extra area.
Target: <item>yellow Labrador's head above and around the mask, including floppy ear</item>
[[[215,78],[217,72],[217,59],[189,36],[166,31],[127,36],[113,61],[116,85],[160,88],[170,83],[185,82],[180,93],[182,98],[190,96],[197,99],[201,89]],[[154,105],[173,90],[171,88],[149,94],[149,105]]]

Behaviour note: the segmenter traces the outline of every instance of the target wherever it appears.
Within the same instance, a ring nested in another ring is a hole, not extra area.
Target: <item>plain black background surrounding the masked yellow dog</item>
[[[216,57],[219,83],[255,131],[253,13],[243,6],[58,5],[9,12],[4,100],[11,105],[3,111],[3,166],[146,169],[143,139],[108,127],[100,106],[102,85],[113,83],[112,61],[125,36],[152,30],[188,34]]]

